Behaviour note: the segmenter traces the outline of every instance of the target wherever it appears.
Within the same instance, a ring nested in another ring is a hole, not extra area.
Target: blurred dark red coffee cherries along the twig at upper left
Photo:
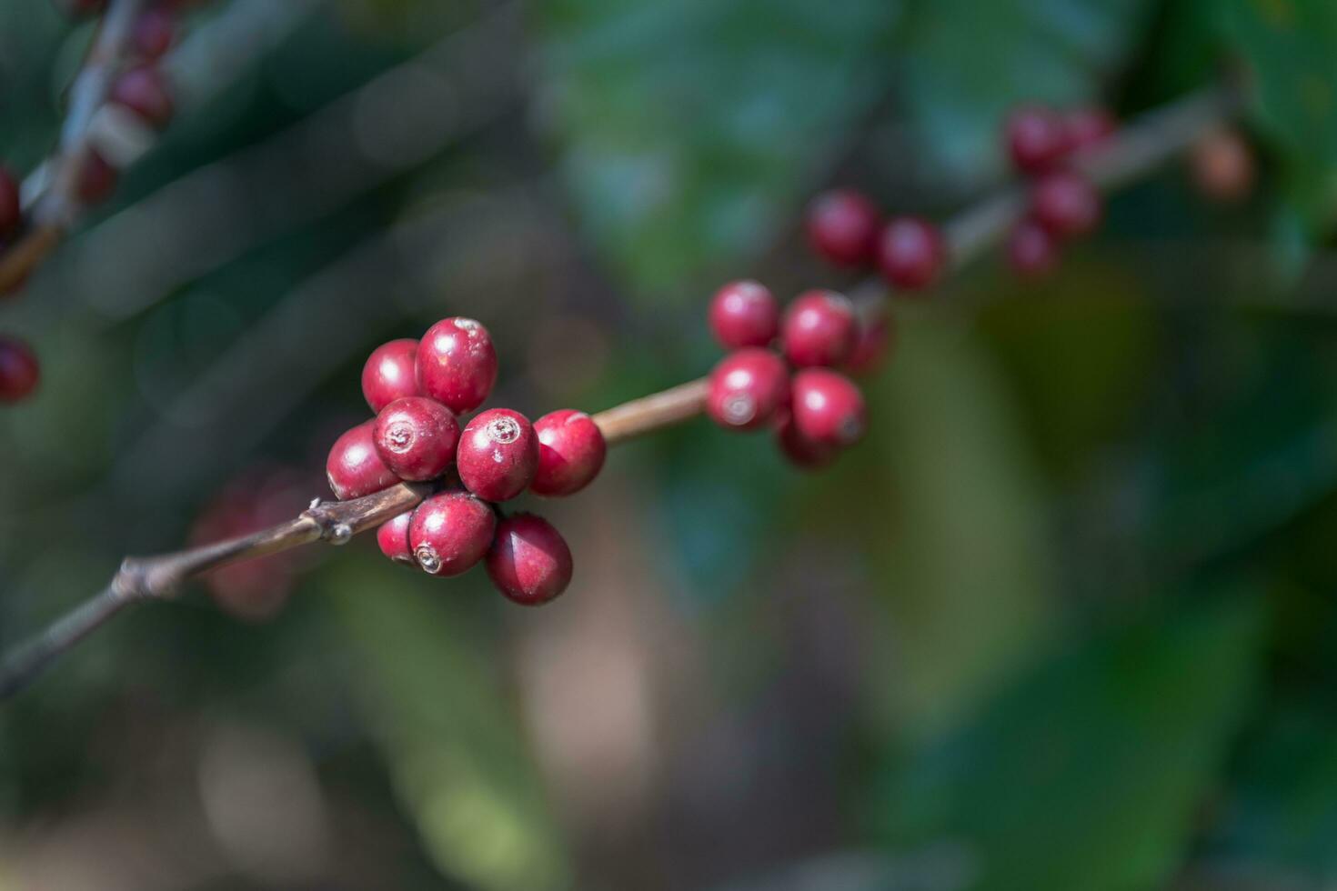
[[[107,102],[130,110],[144,124],[162,128],[172,115],[172,99],[158,60],[171,48],[176,36],[175,11],[182,0],[159,0],[144,9],[135,21],[127,65],[112,81]],[[100,0],[76,0],[68,4],[72,13],[92,13],[103,7]],[[104,200],[116,186],[116,168],[96,148],[80,159],[78,198],[83,204]],[[0,166],[0,254],[24,234],[19,178]],[[11,293],[23,281],[11,286]],[[41,378],[37,357],[24,341],[0,335],[0,403],[25,399]]]

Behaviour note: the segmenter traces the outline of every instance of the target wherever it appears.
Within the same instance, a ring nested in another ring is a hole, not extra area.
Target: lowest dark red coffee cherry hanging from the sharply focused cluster
[[[487,568],[492,584],[509,600],[537,606],[571,584],[571,548],[547,520],[517,513],[497,524]]]

